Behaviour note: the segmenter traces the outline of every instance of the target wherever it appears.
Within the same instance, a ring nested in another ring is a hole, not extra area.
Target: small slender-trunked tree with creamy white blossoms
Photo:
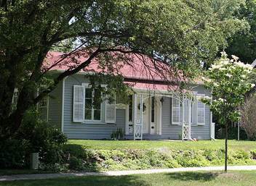
[[[251,83],[252,66],[239,61],[237,56],[228,59],[225,52],[216,60],[202,77],[204,86],[212,89],[212,98],[204,97],[202,101],[210,106],[220,124],[225,126],[225,172],[228,159],[228,123],[238,122],[238,107],[244,102],[245,94],[255,87]]]

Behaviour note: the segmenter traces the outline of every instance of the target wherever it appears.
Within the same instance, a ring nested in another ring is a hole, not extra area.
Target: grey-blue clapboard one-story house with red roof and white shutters
[[[52,52],[47,62],[60,59],[62,55]],[[177,85],[170,88],[161,75],[145,69],[139,59],[132,65],[124,64],[119,69],[124,82],[134,90],[129,103],[116,100],[92,105],[100,93],[90,88],[87,75],[98,70],[97,65],[90,64],[90,69],[66,77],[41,101],[42,117],[60,126],[70,139],[109,139],[117,129],[124,131],[125,139],[133,140],[215,138],[212,113],[199,100],[200,96],[211,96],[210,90],[200,82],[191,84],[190,92],[194,96],[188,98],[185,91],[181,95],[175,93]],[[55,66],[49,72],[58,75],[65,68]]]

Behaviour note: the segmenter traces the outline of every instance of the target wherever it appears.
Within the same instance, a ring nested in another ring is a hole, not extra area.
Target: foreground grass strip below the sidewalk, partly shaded
[[[180,172],[136,174],[120,177],[87,176],[0,182],[0,186],[255,186],[256,172]]]

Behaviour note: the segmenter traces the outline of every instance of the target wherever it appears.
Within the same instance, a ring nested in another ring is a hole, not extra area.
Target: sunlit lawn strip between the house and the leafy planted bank
[[[112,150],[112,149],[161,149],[169,148],[173,150],[185,150],[185,149],[205,149],[209,148],[224,149],[224,140],[199,140],[193,141],[179,141],[179,140],[68,140],[70,144],[84,145],[87,149],[97,150]],[[249,151],[256,149],[255,141],[237,141],[229,140],[228,147],[233,150]]]

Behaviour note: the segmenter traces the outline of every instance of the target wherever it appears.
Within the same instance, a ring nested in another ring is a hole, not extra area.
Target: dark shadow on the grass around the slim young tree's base
[[[213,172],[175,172],[169,173],[169,177],[173,180],[178,179],[180,181],[204,181],[208,182],[215,179],[218,173]]]

